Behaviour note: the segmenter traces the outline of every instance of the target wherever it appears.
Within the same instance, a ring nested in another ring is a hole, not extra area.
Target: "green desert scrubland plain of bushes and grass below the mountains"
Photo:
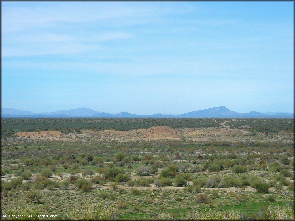
[[[1,119],[1,215],[292,220],[293,123],[258,118]],[[252,129],[228,132],[240,125]],[[160,136],[166,129],[179,137]],[[219,129],[225,132],[217,133]],[[139,135],[97,135],[112,130]],[[14,135],[36,131],[60,131],[67,138]],[[205,133],[210,140],[190,139]]]

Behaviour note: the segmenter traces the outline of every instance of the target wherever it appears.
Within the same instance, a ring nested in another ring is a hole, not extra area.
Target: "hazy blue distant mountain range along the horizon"
[[[265,112],[260,113],[251,111],[249,113],[238,113],[227,109],[225,106],[214,107],[204,110],[195,110],[179,115],[156,113],[152,115],[138,115],[128,112],[120,112],[117,114],[110,114],[107,112],[99,112],[90,108],[77,108],[71,110],[57,110],[55,112],[43,112],[41,114],[16,110],[11,108],[2,108],[1,117],[3,118],[73,118],[73,117],[87,117],[87,118],[293,118],[294,114],[289,112]]]

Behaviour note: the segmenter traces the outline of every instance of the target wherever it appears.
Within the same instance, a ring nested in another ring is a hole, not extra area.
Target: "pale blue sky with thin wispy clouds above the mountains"
[[[1,6],[4,108],[294,112],[292,1]]]

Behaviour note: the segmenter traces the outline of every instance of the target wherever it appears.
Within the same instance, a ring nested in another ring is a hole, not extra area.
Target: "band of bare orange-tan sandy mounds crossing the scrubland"
[[[237,121],[233,119],[231,121]],[[19,137],[24,140],[114,140],[114,141],[151,141],[151,140],[182,140],[188,141],[280,141],[292,142],[293,133],[285,132],[278,134],[263,134],[253,129],[237,129],[224,125],[229,121],[220,123],[223,128],[171,128],[168,126],[153,126],[151,128],[141,128],[130,131],[114,130],[81,130],[81,133],[64,134],[60,131],[37,131],[37,132],[17,132],[13,137]],[[256,136],[249,136],[250,131],[256,132]]]

